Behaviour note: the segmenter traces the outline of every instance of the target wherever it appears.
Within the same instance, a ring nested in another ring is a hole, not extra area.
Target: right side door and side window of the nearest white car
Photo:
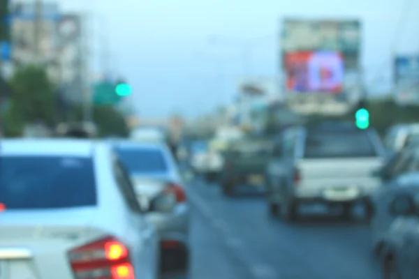
[[[138,278],[157,278],[159,269],[159,239],[156,229],[147,221],[145,215],[141,213],[140,204],[135,196],[135,190],[129,179],[126,169],[119,162],[114,162],[114,172],[117,178],[117,183],[130,207],[130,232],[127,234],[139,234],[140,243],[137,243],[133,249],[137,252],[136,259],[138,266],[135,272]]]

